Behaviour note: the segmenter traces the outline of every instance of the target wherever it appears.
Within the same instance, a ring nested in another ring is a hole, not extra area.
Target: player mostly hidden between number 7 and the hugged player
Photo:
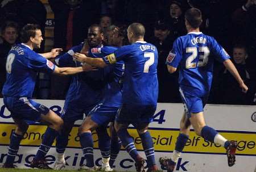
[[[117,47],[121,47],[123,42],[122,40],[124,39],[124,35],[122,33],[123,33],[122,28],[115,27],[113,29],[113,34],[108,36],[109,43],[112,42],[111,43],[112,45],[117,45]],[[117,47],[115,47],[115,49],[117,49]],[[78,56],[78,55],[82,56],[82,54],[80,53],[76,53],[75,56]],[[92,110],[89,113],[89,115],[83,121],[79,129],[80,143],[81,143],[82,151],[84,153],[84,157],[86,159],[86,164],[81,166],[81,169],[84,169],[84,170],[92,169],[92,167],[94,166],[92,131],[94,131],[94,129],[98,127],[101,127],[101,128],[108,127],[108,124],[114,121],[118,108],[121,106],[122,77],[123,77],[125,65],[123,64],[123,61],[119,61],[113,65],[107,66],[104,69],[110,71],[109,75],[105,76],[108,81],[108,84],[105,86],[105,89],[104,89],[104,100],[102,101],[101,104],[98,104],[98,106],[94,107],[94,110]],[[119,141],[118,137],[113,136],[113,135],[116,135],[114,131],[111,131],[111,132],[112,132],[111,142],[110,140],[106,140],[105,142],[99,142],[99,144],[104,144],[104,145],[101,145],[101,147],[105,148],[105,150],[101,150],[101,154],[102,154],[101,170],[104,170],[104,171],[113,171],[113,169],[110,167],[110,164],[113,166],[114,159],[117,156],[119,152],[119,148],[121,146],[121,142]],[[101,134],[101,132],[97,132],[97,133],[98,135]],[[101,137],[104,138],[104,136],[101,136]],[[111,149],[112,161],[110,161],[110,144],[112,147]],[[113,151],[115,152],[114,153],[115,155],[113,155]]]

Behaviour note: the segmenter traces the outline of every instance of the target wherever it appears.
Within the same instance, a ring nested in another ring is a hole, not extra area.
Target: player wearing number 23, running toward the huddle
[[[243,83],[240,74],[230,61],[230,56],[224,48],[213,37],[200,32],[201,22],[201,11],[199,9],[187,10],[185,25],[188,34],[175,40],[173,49],[166,61],[170,73],[174,73],[179,66],[180,95],[185,107],[174,153],[170,159],[159,159],[160,164],[166,167],[168,172],[175,170],[176,162],[188,140],[191,125],[198,136],[226,149],[229,166],[233,166],[236,161],[236,141],[228,141],[215,129],[206,125],[204,120],[203,111],[212,83],[214,58],[222,62],[226,69],[232,73],[244,92],[248,88]]]

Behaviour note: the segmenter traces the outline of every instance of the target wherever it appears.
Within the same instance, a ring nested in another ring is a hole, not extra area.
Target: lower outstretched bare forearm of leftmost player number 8
[[[72,74],[86,72],[86,71],[88,71],[88,68],[86,65],[83,65],[83,66],[77,67],[77,68],[69,68],[69,67],[59,68],[56,66],[53,73],[58,74],[58,75],[72,75]]]

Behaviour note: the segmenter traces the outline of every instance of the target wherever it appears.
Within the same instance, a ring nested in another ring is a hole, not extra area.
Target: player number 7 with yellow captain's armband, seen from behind
[[[131,45],[119,48],[106,58],[90,58],[78,53],[75,53],[74,57],[101,68],[118,61],[125,62],[122,106],[115,118],[115,129],[123,147],[135,161],[137,171],[144,171],[145,161],[139,156],[133,137],[127,131],[129,124],[137,128],[147,157],[148,171],[154,171],[157,170],[154,144],[147,128],[155,113],[158,98],[158,51],[154,45],[144,41],[144,33],[145,29],[141,23],[132,23],[127,29]]]

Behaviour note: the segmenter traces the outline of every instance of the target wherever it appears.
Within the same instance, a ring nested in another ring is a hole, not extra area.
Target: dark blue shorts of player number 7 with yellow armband
[[[151,123],[155,110],[156,105],[122,104],[115,121],[121,124],[133,124],[134,126],[140,123]]]

